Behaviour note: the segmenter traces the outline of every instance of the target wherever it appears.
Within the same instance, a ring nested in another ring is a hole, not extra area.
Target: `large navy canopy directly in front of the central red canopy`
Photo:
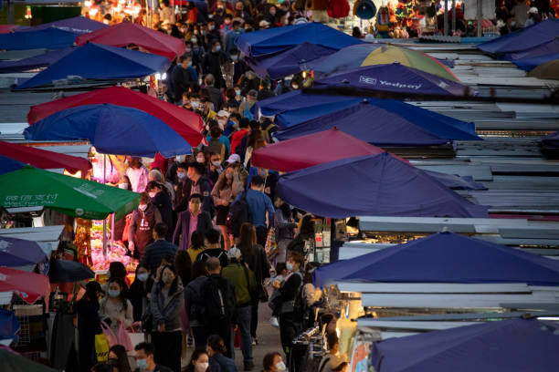
[[[424,171],[383,152],[282,174],[281,199],[324,217],[487,217]]]

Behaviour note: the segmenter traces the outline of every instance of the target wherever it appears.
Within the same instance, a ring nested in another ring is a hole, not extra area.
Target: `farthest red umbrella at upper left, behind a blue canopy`
[[[88,42],[111,47],[142,47],[150,53],[168,57],[171,60],[185,53],[183,40],[131,22],[101,28],[76,38],[78,46],[83,46]]]

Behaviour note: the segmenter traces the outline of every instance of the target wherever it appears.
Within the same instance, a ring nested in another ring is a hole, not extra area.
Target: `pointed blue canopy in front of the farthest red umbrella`
[[[169,58],[163,56],[88,43],[77,47],[17,88],[44,86],[68,76],[90,79],[141,78],[165,71],[170,63]]]

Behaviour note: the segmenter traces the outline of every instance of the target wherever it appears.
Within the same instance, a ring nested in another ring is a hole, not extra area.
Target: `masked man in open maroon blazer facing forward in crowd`
[[[180,250],[188,250],[190,237],[194,232],[206,234],[214,228],[209,212],[201,211],[202,195],[193,193],[190,195],[188,210],[181,212],[176,222],[173,233],[173,242],[178,243]]]

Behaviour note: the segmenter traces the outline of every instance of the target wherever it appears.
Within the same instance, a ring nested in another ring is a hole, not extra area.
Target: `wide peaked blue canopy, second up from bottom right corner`
[[[343,280],[559,285],[559,261],[457,233],[435,233],[324,265],[313,275],[314,284],[322,286]]]

